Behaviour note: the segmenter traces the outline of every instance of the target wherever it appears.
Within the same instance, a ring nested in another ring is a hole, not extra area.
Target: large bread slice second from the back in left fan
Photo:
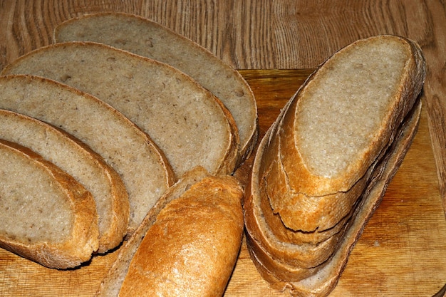
[[[197,165],[212,174],[234,171],[239,136],[232,115],[167,64],[100,43],[70,42],[38,48],[3,73],[41,75],[110,104],[150,135],[176,177]]]

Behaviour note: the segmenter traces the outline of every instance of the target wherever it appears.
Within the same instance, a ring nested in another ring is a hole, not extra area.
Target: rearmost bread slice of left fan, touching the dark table
[[[232,113],[240,137],[237,165],[249,157],[256,145],[256,101],[242,75],[207,49],[165,26],[132,14],[88,14],[59,24],[54,40],[105,43],[180,69],[214,93]]]

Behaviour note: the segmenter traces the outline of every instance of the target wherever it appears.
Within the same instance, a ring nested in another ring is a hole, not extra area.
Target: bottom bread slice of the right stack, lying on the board
[[[403,158],[408,151],[410,144],[415,137],[418,129],[418,121],[421,113],[421,101],[418,100],[415,103],[415,107],[408,115],[408,119],[403,124],[403,127],[399,130],[399,134],[396,135],[395,141],[392,147],[390,147],[389,154],[385,155],[383,164],[383,171],[380,172],[380,176],[373,180],[372,186],[368,187],[367,191],[363,194],[360,204],[356,208],[355,213],[352,216],[351,222],[348,222],[348,229],[343,236],[338,249],[336,249],[333,256],[326,261],[320,269],[317,270],[311,276],[302,278],[300,281],[291,281],[291,278],[284,278],[286,273],[291,271],[274,271],[274,269],[267,268],[265,263],[259,260],[259,256],[255,254],[254,249],[249,247],[251,259],[254,261],[256,268],[261,276],[266,281],[269,281],[271,287],[276,288],[279,291],[285,291],[289,289],[292,296],[299,297],[323,297],[335,288],[338,283],[338,278],[344,267],[347,264],[348,256],[353,249],[356,241],[362,234],[365,224],[372,216],[375,209],[378,208],[385,189],[390,180],[395,175],[400,163],[403,162]],[[254,170],[254,169],[253,169]],[[251,188],[249,194],[255,195],[256,189]],[[284,266],[281,267],[283,269]],[[296,268],[294,268],[296,269]],[[282,278],[281,278],[282,277]]]

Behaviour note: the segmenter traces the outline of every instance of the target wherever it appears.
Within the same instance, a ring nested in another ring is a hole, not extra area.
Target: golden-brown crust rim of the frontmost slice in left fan
[[[61,241],[25,242],[14,239],[14,236],[10,235],[0,237],[0,246],[50,268],[67,269],[88,261],[99,245],[98,214],[90,192],[76,182],[76,179],[28,148],[6,140],[0,140],[0,147],[1,150],[28,160],[30,166],[38,168],[41,174],[51,177],[54,187],[62,190],[65,196],[62,199],[67,199],[71,205],[71,215],[73,216],[71,230],[68,236]],[[3,182],[7,182],[7,180]],[[41,180],[23,180],[21,182],[38,183]],[[2,199],[8,198],[2,197]]]

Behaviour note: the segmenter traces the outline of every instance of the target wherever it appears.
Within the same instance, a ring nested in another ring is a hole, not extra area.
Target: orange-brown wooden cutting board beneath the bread
[[[256,96],[263,136],[311,70],[240,72]],[[432,296],[446,282],[446,221],[430,143],[423,111],[413,145],[331,296]],[[252,157],[236,173],[244,182],[251,161]],[[93,296],[117,254],[96,256],[81,268],[57,271],[0,249],[0,296]],[[243,241],[224,296],[289,293],[269,288]]]

